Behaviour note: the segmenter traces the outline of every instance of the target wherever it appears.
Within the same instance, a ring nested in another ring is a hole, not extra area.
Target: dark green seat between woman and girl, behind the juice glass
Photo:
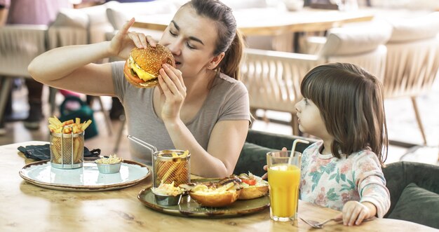
[[[264,175],[265,171],[262,167],[266,165],[266,153],[281,150],[283,147],[290,150],[295,139],[304,139],[309,141],[310,144],[318,141],[293,135],[279,135],[258,130],[248,130],[248,135],[245,139],[241,155],[238,158],[238,163],[236,163],[234,174],[239,175],[252,172],[259,177]],[[308,146],[309,144],[297,143],[296,151],[303,152]]]

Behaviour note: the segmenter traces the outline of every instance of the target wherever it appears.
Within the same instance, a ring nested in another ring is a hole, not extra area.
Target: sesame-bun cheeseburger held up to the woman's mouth
[[[131,50],[130,57],[125,62],[123,74],[133,86],[152,88],[158,84],[158,71],[162,64],[175,67],[173,54],[161,44],[157,44],[155,48],[148,44],[147,48]]]

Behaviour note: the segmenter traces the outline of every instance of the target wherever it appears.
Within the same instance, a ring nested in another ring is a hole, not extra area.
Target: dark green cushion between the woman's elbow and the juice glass
[[[254,175],[261,177],[266,172],[263,169],[264,165],[266,165],[266,153],[274,150],[245,142],[238,158],[238,163],[236,163],[234,174],[239,175],[252,172]]]

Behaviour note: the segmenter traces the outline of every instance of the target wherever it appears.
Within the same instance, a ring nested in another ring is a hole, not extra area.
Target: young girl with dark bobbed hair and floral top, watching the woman
[[[353,64],[324,64],[306,74],[301,92],[299,130],[323,141],[302,154],[300,198],[341,210],[344,225],[383,217],[390,195],[381,83]]]

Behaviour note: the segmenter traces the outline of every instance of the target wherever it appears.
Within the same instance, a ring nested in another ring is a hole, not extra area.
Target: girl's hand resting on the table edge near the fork
[[[344,204],[342,213],[336,218],[343,219],[345,226],[353,226],[354,224],[358,226],[364,219],[374,217],[375,214],[376,208],[372,203],[360,203],[356,200],[351,200]]]

